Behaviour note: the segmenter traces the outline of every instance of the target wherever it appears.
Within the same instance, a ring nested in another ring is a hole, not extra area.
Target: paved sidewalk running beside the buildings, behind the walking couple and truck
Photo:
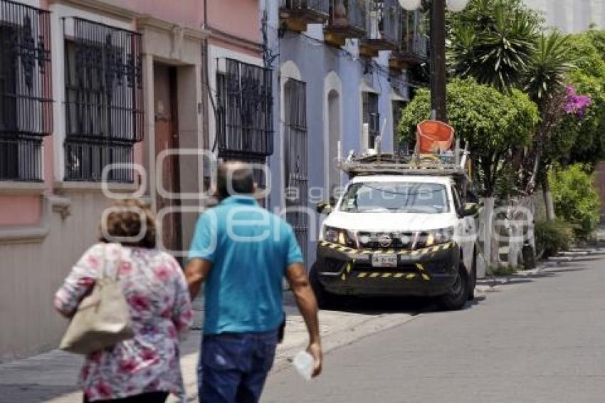
[[[605,234],[604,234],[605,236]],[[529,281],[550,276],[551,271],[564,269],[573,261],[591,259],[605,253],[605,248],[596,246],[562,253],[549,258],[536,269],[511,276],[485,278],[478,281],[478,300],[493,292],[505,291],[509,286],[518,286]],[[412,304],[413,305],[413,304]],[[181,367],[189,402],[197,402],[196,364],[201,338],[202,302],[194,301],[196,319],[194,329],[181,344]],[[320,311],[320,330],[324,352],[349,345],[352,342],[394,328],[401,323],[417,318],[414,306],[397,300],[359,300],[353,308]],[[284,342],[279,345],[273,372],[290,365],[291,358],[307,343],[304,321],[295,307],[290,293],[285,294],[285,311],[288,314]],[[54,350],[35,357],[0,364],[0,403],[76,403],[82,402],[82,394],[75,382],[82,357]],[[302,381],[302,379],[300,380]],[[170,402],[176,399],[169,400]]]

